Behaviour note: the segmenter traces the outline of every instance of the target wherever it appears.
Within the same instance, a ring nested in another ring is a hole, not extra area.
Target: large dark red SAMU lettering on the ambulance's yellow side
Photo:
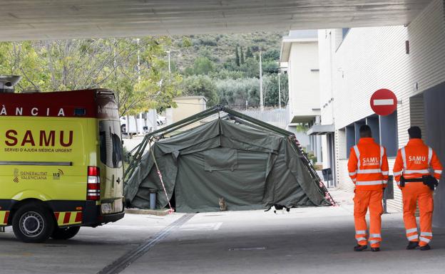
[[[66,137],[68,135],[68,137]],[[16,130],[6,130],[5,144],[9,147],[14,147],[20,144],[31,145],[32,147],[54,147],[56,142],[61,147],[70,147],[73,144],[73,130],[65,132],[60,130],[40,130],[39,133],[26,130],[23,135],[19,134]]]

